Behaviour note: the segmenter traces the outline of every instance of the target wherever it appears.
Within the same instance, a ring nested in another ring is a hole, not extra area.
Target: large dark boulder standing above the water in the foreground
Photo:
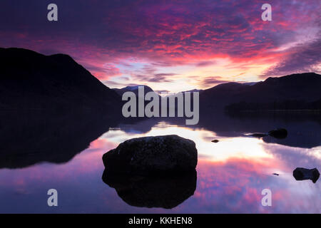
[[[167,175],[195,170],[195,142],[178,135],[133,138],[103,155],[108,172],[128,175]]]

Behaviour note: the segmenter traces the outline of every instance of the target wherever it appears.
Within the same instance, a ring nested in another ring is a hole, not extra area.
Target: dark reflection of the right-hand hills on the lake
[[[202,113],[201,113],[202,114]],[[247,113],[246,115],[224,115],[203,113],[199,125],[222,137],[237,137],[245,133],[267,133],[275,128],[285,128],[287,138],[270,136],[265,142],[291,147],[312,148],[321,145],[320,113]]]

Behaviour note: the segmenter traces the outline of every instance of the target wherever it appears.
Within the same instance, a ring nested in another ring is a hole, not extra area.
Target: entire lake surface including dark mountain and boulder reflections
[[[321,127],[315,120],[287,123],[277,118],[263,118],[251,123],[231,118],[225,123],[217,123],[223,120],[218,117],[212,118],[213,125],[200,123],[193,128],[168,120],[143,120],[143,123],[133,124],[113,122],[113,125],[92,122],[89,118],[75,122],[67,120],[42,126],[28,122],[21,133],[18,127],[23,125],[22,120],[14,125],[13,133],[10,133],[9,124],[1,122],[1,137],[5,140],[0,155],[0,212],[321,212],[321,182],[298,182],[292,176],[296,167],[320,170],[318,137]],[[242,136],[279,127],[287,128],[289,132],[285,141],[266,142]],[[292,138],[295,133],[304,136]],[[107,181],[103,178],[111,187],[101,180],[104,170],[101,157],[120,142],[134,137],[172,134],[195,142],[199,155],[197,179],[114,178]],[[213,139],[219,142],[211,142]],[[32,154],[33,150],[38,153]],[[11,154],[9,160],[7,157]],[[6,158],[6,162],[2,158]],[[16,169],[7,169],[12,167]],[[178,186],[174,187],[176,183]],[[59,206],[56,208],[46,204],[46,192],[50,188],[58,190]],[[272,207],[261,204],[261,192],[265,188],[272,191]],[[143,190],[148,190],[148,194],[143,194]],[[168,201],[160,202],[159,192],[163,192],[161,194],[168,197]]]

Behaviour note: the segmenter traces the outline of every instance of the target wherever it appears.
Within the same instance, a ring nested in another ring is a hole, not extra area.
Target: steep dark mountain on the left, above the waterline
[[[120,96],[73,58],[0,48],[0,110],[121,110]]]

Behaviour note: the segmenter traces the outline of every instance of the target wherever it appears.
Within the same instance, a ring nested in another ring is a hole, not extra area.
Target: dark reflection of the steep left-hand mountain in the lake
[[[117,121],[91,112],[1,112],[0,168],[68,162]]]

